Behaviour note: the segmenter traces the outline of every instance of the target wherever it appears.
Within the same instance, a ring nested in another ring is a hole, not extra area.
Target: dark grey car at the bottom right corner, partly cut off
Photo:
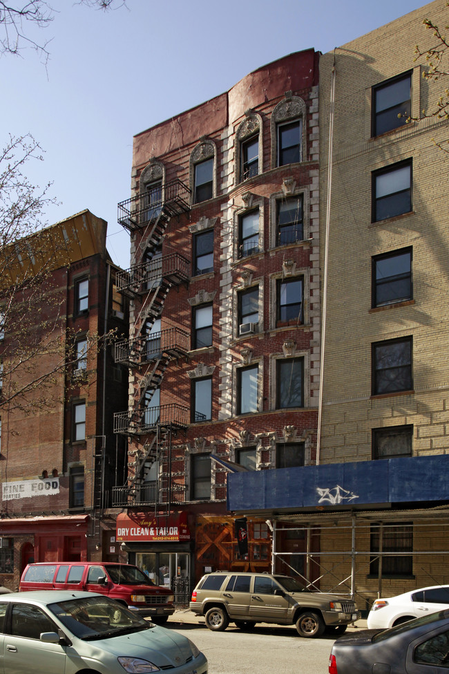
[[[343,635],[332,646],[329,674],[434,674],[449,668],[449,609],[389,630]]]

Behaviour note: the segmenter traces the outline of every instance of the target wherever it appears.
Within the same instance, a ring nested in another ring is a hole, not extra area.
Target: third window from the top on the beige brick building
[[[395,250],[372,259],[372,306],[412,299],[412,249]]]

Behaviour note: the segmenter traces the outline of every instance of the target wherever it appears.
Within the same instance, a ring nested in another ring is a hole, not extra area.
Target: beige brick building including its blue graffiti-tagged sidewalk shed
[[[229,477],[229,507],[303,527],[307,578],[360,608],[449,582],[449,121],[422,112],[448,84],[415,60],[425,18],[447,26],[446,1],[320,59],[319,453],[284,493],[279,471]]]

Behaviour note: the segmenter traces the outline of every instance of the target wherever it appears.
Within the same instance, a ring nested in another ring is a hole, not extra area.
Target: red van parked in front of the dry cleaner
[[[85,590],[99,592],[165,623],[175,612],[173,592],[151,581],[138,566],[114,562],[41,562],[28,564],[19,592],[26,590]]]

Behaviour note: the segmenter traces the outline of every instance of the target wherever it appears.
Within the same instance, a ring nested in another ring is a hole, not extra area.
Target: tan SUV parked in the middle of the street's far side
[[[310,592],[296,578],[269,573],[217,571],[202,577],[190,609],[204,615],[209,630],[241,629],[257,622],[296,625],[300,637],[342,634],[359,617],[352,599]]]

